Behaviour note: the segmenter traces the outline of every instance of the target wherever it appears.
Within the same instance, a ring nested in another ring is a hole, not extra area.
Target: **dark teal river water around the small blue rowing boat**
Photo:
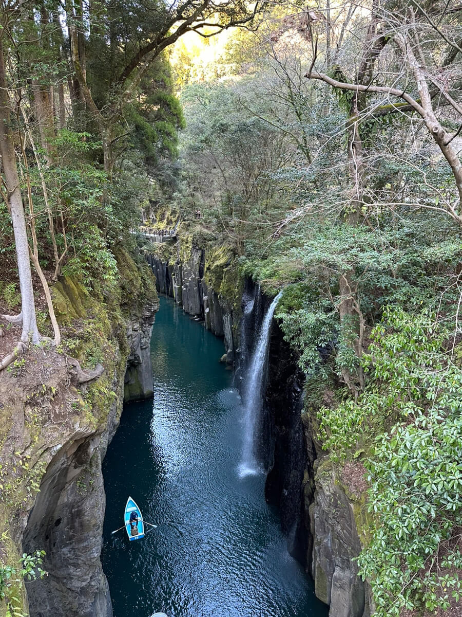
[[[239,478],[243,410],[223,343],[161,298],[154,399],[126,405],[103,465],[103,568],[115,617],[326,617],[286,550],[264,476]],[[129,542],[131,495],[157,523]]]

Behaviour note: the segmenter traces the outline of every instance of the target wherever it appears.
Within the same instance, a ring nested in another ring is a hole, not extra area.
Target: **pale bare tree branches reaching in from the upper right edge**
[[[444,212],[459,226],[462,226],[462,165],[455,138],[462,126],[457,64],[462,54],[461,12],[460,5],[452,1],[419,4],[410,0],[399,7],[395,2],[377,4],[370,19],[379,27],[372,39],[367,37],[365,49],[372,44],[378,57],[386,43],[392,46],[394,55],[385,60],[386,70],[371,64],[366,80],[348,80],[337,66],[326,67],[326,72],[316,70],[314,57],[306,73],[307,78],[324,81],[344,98],[367,101],[357,115],[360,131],[365,130],[367,121],[374,122],[384,115],[418,114],[447,160],[455,184],[455,191],[448,199],[421,206]],[[448,127],[453,123],[457,128],[450,130]]]

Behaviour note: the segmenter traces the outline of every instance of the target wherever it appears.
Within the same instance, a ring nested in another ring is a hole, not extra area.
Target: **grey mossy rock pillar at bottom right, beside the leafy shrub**
[[[356,558],[367,545],[370,513],[362,463],[332,462],[317,439],[316,405],[302,413],[309,452],[305,512],[312,542],[307,559],[315,594],[330,615],[370,617],[370,586],[358,575]]]

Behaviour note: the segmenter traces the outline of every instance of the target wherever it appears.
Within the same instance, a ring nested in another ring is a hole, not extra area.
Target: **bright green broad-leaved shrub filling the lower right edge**
[[[319,412],[335,457],[368,452],[375,521],[358,561],[376,617],[447,608],[460,596],[462,370],[447,353],[449,334],[428,312],[387,308],[363,358],[365,392]]]

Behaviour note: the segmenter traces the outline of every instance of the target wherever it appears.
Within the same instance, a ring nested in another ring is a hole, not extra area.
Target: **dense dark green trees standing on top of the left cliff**
[[[22,295],[22,312],[12,321],[22,323],[22,342],[40,339],[29,251],[44,285],[56,344],[60,338],[40,263],[45,255],[39,258],[39,226],[48,226],[54,280],[71,251],[74,265],[91,270],[92,262],[103,259],[107,234],[118,233],[113,225],[126,226],[126,197],[139,201],[134,170],[141,165],[148,178],[158,175],[169,181],[165,165],[164,173],[159,167],[175,157],[176,130],[183,120],[164,50],[189,31],[209,37],[232,25],[253,28],[266,9],[264,2],[248,6],[240,0],[2,5],[0,149]],[[146,180],[142,184],[149,185]],[[116,186],[128,186],[127,196]],[[38,209],[46,215],[39,217]],[[6,243],[2,250],[11,252],[11,246]],[[40,247],[41,252],[46,249]],[[105,261],[110,271],[110,255]]]

